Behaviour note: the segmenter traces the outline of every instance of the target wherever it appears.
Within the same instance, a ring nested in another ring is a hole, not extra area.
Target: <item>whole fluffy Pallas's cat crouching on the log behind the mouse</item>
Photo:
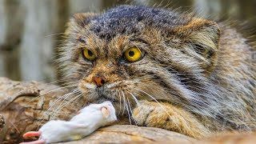
[[[110,100],[133,124],[194,138],[255,128],[254,48],[230,26],[118,6],[74,14],[65,37],[60,70],[87,102]]]

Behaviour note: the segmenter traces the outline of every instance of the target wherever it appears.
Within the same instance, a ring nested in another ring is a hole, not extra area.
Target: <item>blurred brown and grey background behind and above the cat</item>
[[[181,7],[256,25],[256,0],[0,0],[0,77],[53,82],[58,78],[54,48],[70,16],[121,4]]]

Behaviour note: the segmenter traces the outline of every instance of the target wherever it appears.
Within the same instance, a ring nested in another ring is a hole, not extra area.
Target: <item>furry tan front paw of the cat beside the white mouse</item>
[[[166,102],[142,102],[134,109],[133,118],[138,126],[172,130],[193,138],[210,134],[192,114]]]

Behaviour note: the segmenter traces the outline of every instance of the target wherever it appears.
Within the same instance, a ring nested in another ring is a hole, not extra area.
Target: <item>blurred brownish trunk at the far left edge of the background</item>
[[[23,9],[18,0],[2,0],[0,3],[0,74],[5,72],[6,76],[19,79],[19,46],[23,31]]]

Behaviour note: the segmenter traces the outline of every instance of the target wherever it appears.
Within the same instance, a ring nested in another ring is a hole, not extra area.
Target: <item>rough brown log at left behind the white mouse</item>
[[[42,82],[15,82],[8,78],[0,78],[0,114],[5,119],[4,127],[1,128],[0,143],[1,141],[22,142],[22,134],[26,131],[38,130],[38,126],[42,126],[50,119],[69,119],[82,108],[82,99],[54,114],[54,110],[57,110],[60,104],[65,104],[74,98],[74,95],[68,94],[69,90],[59,86]],[[54,104],[62,96],[69,97],[61,98]],[[49,107],[50,109],[47,110]],[[1,123],[3,124],[0,120]]]

